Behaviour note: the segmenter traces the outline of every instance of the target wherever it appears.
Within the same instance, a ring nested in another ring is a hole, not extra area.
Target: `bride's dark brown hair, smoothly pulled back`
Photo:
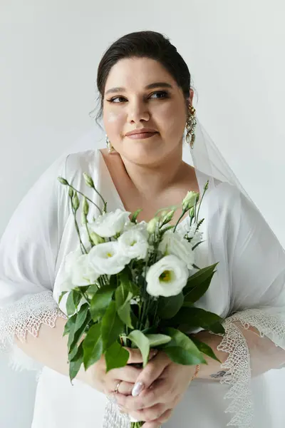
[[[97,121],[102,117],[105,84],[111,68],[120,59],[133,57],[159,61],[175,79],[177,85],[182,88],[185,102],[188,105],[191,76],[187,63],[167,37],[155,31],[138,31],[120,37],[105,51],[100,61],[97,73],[100,111],[96,117]]]

